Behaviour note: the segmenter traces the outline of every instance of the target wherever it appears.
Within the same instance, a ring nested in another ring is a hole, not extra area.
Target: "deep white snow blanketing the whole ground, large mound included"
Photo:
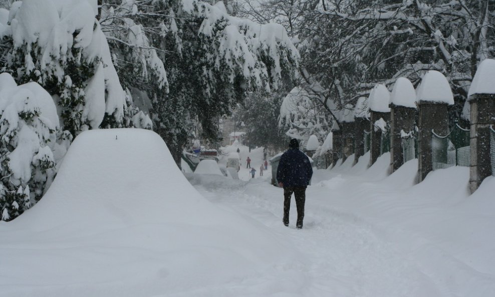
[[[245,168],[263,148],[239,149],[239,180],[185,174],[194,189],[153,132],[81,134],[47,196],[0,223],[0,295],[493,295],[495,178],[469,195],[466,167],[414,185],[417,160],[387,175],[389,153],[350,156],[315,170],[297,230],[270,170]]]

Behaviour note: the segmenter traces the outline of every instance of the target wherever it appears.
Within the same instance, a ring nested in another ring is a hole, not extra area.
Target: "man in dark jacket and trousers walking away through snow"
[[[284,225],[289,226],[289,210],[291,209],[292,193],[296,198],[297,222],[296,228],[303,227],[304,203],[306,200],[306,187],[313,176],[311,162],[302,151],[299,150],[299,142],[293,138],[289,142],[289,150],[280,157],[277,168],[277,181],[284,188]]]

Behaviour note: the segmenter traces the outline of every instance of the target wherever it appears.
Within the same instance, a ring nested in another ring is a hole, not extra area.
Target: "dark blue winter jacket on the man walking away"
[[[299,148],[291,148],[280,157],[277,181],[284,187],[307,186],[312,175],[311,162]]]

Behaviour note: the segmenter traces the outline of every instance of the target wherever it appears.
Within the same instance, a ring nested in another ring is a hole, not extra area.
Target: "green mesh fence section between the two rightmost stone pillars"
[[[455,124],[445,136],[433,133],[431,140],[433,170],[451,166],[469,166],[469,130]]]

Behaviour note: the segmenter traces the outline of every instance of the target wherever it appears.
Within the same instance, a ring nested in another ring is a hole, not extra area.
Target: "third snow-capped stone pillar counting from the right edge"
[[[400,77],[390,96],[390,171],[404,164],[402,136],[412,133],[416,126],[416,91],[411,82]]]

